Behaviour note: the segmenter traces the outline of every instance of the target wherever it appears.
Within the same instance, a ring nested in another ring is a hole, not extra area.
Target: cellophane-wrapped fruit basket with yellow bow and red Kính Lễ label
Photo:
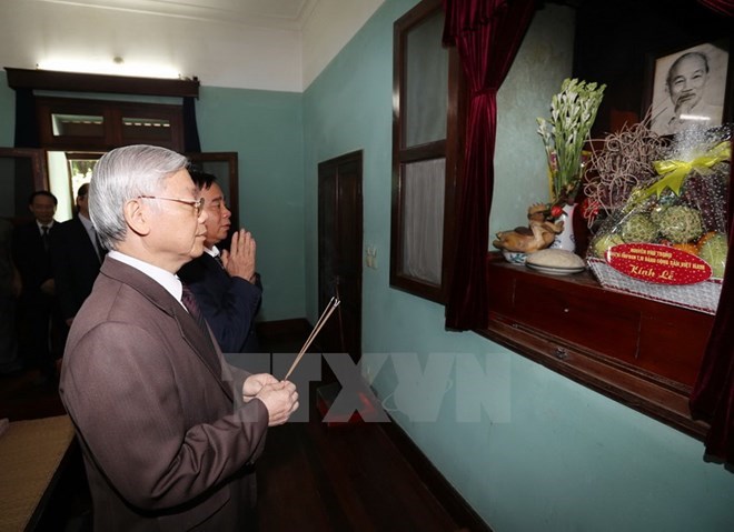
[[[634,189],[603,222],[586,261],[604,288],[716,313],[728,251],[727,131],[680,139],[655,163],[661,178]]]

